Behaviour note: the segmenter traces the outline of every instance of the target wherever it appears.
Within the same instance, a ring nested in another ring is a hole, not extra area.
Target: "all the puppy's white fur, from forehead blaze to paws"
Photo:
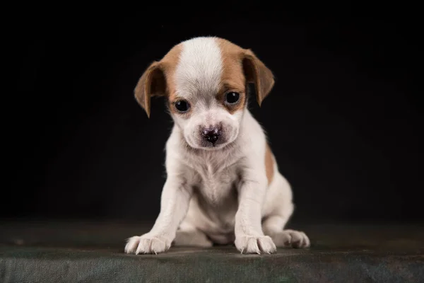
[[[190,101],[193,112],[189,118],[172,115],[160,214],[149,233],[129,238],[126,253],[161,253],[173,241],[204,247],[233,242],[242,253],[310,246],[305,233],[283,230],[293,213],[292,191],[274,157],[268,183],[261,126],[247,108],[231,115],[212,99],[222,64],[213,37],[183,43],[175,80],[178,95]],[[225,142],[202,148],[197,129],[216,123],[228,133]]]

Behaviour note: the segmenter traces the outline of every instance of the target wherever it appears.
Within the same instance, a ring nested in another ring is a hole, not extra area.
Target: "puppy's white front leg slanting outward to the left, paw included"
[[[187,213],[192,189],[184,180],[168,177],[160,199],[160,213],[150,232],[128,239],[125,253],[162,253],[170,248],[177,228]]]

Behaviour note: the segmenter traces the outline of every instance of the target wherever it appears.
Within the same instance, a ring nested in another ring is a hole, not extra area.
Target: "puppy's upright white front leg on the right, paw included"
[[[253,172],[249,176],[254,176]],[[266,178],[242,180],[239,207],[235,214],[235,247],[241,253],[274,253],[276,245],[261,227],[261,207],[266,192]]]

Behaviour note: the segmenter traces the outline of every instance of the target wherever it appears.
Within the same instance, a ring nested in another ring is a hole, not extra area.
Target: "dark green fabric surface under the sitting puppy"
[[[124,239],[150,225],[0,223],[0,282],[424,282],[423,226],[299,226],[312,247],[273,255],[124,254]]]

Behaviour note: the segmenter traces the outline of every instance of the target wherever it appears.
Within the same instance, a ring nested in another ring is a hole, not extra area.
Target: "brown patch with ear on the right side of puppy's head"
[[[235,112],[245,106],[247,101],[247,83],[254,83],[257,101],[262,101],[273,88],[274,79],[270,69],[252,52],[240,46],[216,38],[221,50],[223,60],[222,93],[220,98],[225,98],[225,93],[235,91],[240,93],[241,103],[228,108],[229,112]]]

